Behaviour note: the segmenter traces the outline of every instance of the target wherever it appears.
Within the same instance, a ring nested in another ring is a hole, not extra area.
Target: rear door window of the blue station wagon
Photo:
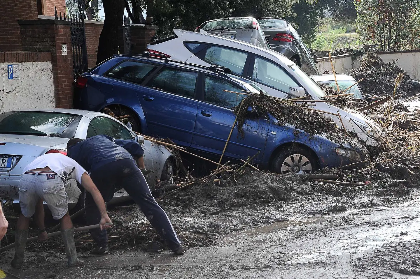
[[[198,73],[187,70],[163,67],[147,83],[147,86],[169,93],[194,98],[197,76]]]

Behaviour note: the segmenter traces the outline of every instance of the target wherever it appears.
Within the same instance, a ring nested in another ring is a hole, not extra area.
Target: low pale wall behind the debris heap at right
[[[384,63],[396,60],[396,65],[407,71],[410,78],[420,80],[420,52],[403,52],[403,53],[384,53],[379,54]],[[360,67],[360,60],[352,61],[351,55],[337,55],[331,57],[334,63],[334,70],[338,74],[347,74],[352,69]],[[360,57],[358,57],[360,58]],[[328,57],[318,58],[317,67],[322,74],[325,70],[332,70],[331,62]]]

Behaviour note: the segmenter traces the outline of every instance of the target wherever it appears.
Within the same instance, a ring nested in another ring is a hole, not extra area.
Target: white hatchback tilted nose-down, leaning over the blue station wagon
[[[271,96],[282,99],[310,95],[313,100],[325,97],[325,91],[295,63],[280,53],[246,42],[208,34],[173,29],[173,35],[147,45],[150,56],[166,57],[202,66],[219,65],[232,73],[251,79]],[[355,110],[343,110],[332,103],[314,102],[316,110],[341,128],[356,133],[360,139],[378,146],[386,132]],[[333,113],[333,114],[331,114]]]

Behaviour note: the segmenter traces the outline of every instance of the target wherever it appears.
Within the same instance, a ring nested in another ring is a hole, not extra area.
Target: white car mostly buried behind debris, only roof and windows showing
[[[312,78],[314,81],[321,83],[323,85],[333,87],[336,90],[337,90],[337,84],[336,84],[336,79],[337,79],[337,83],[339,85],[340,91],[344,91],[347,89],[346,93],[352,93],[354,99],[361,99],[361,100],[366,99],[365,95],[363,95],[362,93],[362,89],[360,89],[359,84],[355,84],[356,80],[352,76],[336,74],[334,78],[333,74],[328,74],[328,75],[313,75],[313,76],[310,76],[310,78]]]

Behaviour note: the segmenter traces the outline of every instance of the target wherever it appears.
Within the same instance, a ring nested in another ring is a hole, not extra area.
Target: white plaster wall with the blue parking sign
[[[19,79],[8,80],[11,64],[19,65]],[[0,76],[0,112],[55,107],[51,61],[0,63]]]

